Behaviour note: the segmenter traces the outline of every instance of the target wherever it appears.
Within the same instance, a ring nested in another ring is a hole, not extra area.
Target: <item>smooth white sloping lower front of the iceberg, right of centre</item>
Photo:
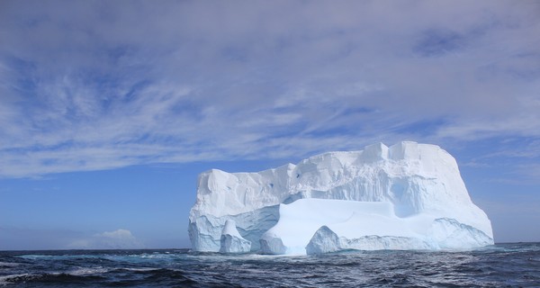
[[[261,238],[265,254],[321,254],[345,249],[468,249],[492,244],[479,229],[421,213],[400,218],[390,202],[302,199],[280,207]],[[272,245],[270,244],[272,243]]]

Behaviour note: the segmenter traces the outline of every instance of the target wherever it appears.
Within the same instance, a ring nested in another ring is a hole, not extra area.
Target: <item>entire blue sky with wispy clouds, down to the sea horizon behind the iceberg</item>
[[[189,247],[203,171],[401,140],[540,241],[540,2],[0,1],[0,250]]]

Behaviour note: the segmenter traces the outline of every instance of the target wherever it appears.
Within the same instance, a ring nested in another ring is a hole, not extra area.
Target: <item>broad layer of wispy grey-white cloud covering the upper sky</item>
[[[540,138],[533,2],[3,5],[0,176]]]

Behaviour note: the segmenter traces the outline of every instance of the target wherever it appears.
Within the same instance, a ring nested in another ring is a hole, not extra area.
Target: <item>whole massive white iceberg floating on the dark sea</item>
[[[270,254],[493,243],[491,222],[471,201],[454,157],[415,142],[329,152],[258,173],[202,173],[189,234],[196,251]]]

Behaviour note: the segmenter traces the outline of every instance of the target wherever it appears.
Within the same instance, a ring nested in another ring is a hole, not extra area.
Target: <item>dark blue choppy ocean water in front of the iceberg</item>
[[[0,252],[22,287],[540,287],[540,243],[466,252],[347,251],[317,257],[188,250]]]

